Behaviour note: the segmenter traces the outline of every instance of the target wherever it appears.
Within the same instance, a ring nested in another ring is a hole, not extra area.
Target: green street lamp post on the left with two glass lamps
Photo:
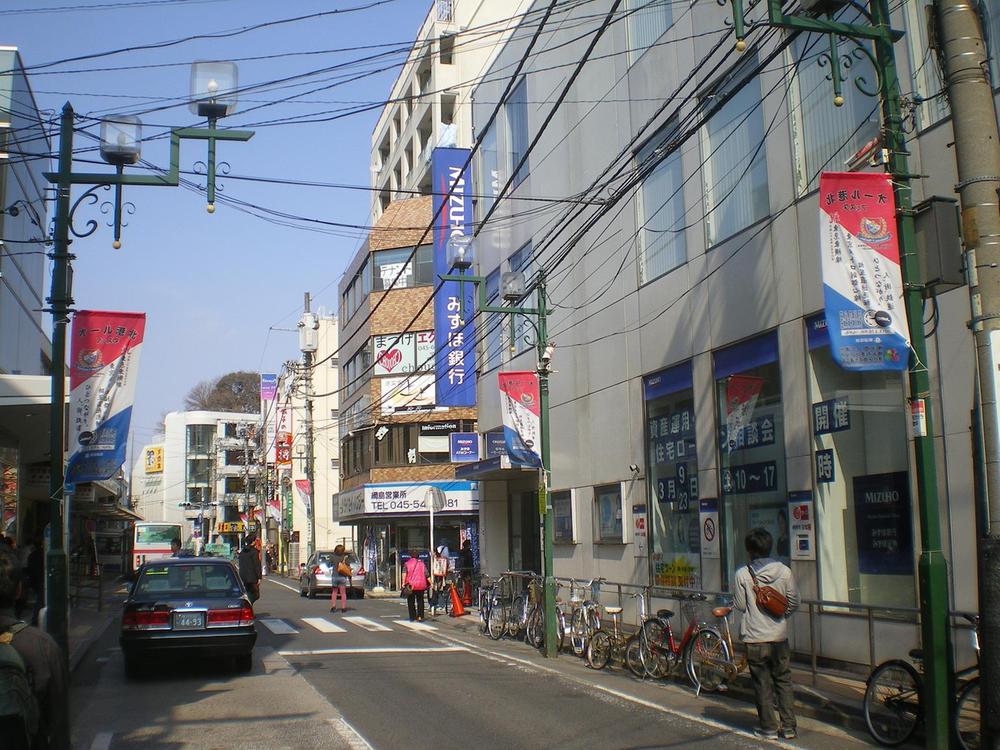
[[[62,110],[59,127],[59,171],[46,172],[45,178],[56,185],[56,211],[54,217],[52,259],[52,289],[45,312],[52,315],[52,411],[50,423],[50,540],[46,553],[46,629],[59,644],[63,658],[69,655],[69,582],[66,557],[66,529],[69,528],[68,507],[64,506],[65,479],[65,400],[66,400],[66,325],[73,305],[73,276],[71,261],[75,258],[69,248],[76,237],[87,237],[97,229],[97,222],[89,220],[82,231],[73,226],[73,215],[85,201],[92,205],[98,198],[98,188],[115,188],[113,204],[113,247],[121,247],[122,210],[134,211],[130,203],[122,203],[124,185],[150,187],[176,187],[180,184],[181,140],[208,142],[206,166],[208,212],[215,211],[215,144],[216,141],[247,141],[253,137],[250,130],[219,130],[217,120],[230,114],[236,106],[236,66],[233,63],[196,62],[191,72],[191,110],[208,120],[208,127],[177,128],[170,133],[170,167],[157,175],[127,175],[124,168],[139,161],[142,124],[137,117],[113,115],[101,124],[101,156],[115,167],[115,172],[73,171],[73,107],[67,102]],[[73,185],[92,187],[70,205]],[[103,208],[103,206],[102,206]]]

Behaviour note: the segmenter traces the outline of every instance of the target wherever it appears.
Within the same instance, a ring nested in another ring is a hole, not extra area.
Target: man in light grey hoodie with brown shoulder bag
[[[791,568],[770,556],[774,539],[767,529],[751,529],[744,544],[750,562],[736,571],[734,604],[743,612],[740,637],[757,697],[760,726],[753,732],[767,739],[795,739],[788,616],[799,606],[798,588]]]

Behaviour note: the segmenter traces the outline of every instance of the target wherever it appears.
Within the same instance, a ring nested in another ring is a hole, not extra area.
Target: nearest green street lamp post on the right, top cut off
[[[731,2],[736,49],[743,51],[746,49],[744,35],[747,26],[743,0],[731,0]],[[748,6],[753,8],[756,4],[750,0]],[[927,745],[933,748],[946,748],[951,742],[949,715],[952,704],[948,577],[947,564],[941,549],[934,431],[931,408],[926,404],[930,398],[930,380],[927,368],[922,364],[928,361],[927,342],[923,329],[923,289],[919,283],[910,188],[910,179],[916,175],[910,174],[907,165],[899,77],[893,51],[893,44],[902,38],[902,32],[891,28],[888,0],[869,0],[868,12],[865,12],[860,4],[847,0],[802,0],[802,8],[812,13],[809,16],[787,15],[782,5],[782,0],[767,0],[768,25],[829,35],[829,53],[824,53],[821,57],[825,58],[826,64],[829,64],[829,78],[834,90],[833,102],[836,106],[839,107],[844,103],[842,94],[844,77],[841,67],[849,69],[851,63],[849,58],[845,60],[838,53],[838,38],[846,39],[855,45],[854,52],[867,57],[878,74],[875,91],[870,90],[866,82],[860,78],[855,78],[854,83],[862,94],[877,97],[882,109],[883,145],[888,156],[887,165],[896,198],[904,300],[910,345],[913,348],[915,361],[908,373],[910,401],[914,405],[922,402],[920,405],[925,407],[927,419],[927,428],[923,434],[916,434],[913,439],[920,515],[921,549],[918,563],[920,628],[926,675],[921,697],[927,717]],[[848,5],[857,10],[867,23],[853,24],[833,20],[834,15]],[[864,42],[871,43],[875,49],[874,55]]]

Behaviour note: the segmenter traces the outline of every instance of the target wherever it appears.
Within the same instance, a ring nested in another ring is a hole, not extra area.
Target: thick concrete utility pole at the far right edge
[[[935,0],[934,7],[955,134],[955,189],[962,205],[976,345],[976,411],[985,448],[973,451],[985,460],[981,469],[988,507],[986,523],[978,529],[983,747],[1000,748],[1000,133],[975,5]]]

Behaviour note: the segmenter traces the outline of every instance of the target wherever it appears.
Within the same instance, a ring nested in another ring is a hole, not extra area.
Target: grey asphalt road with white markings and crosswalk
[[[79,750],[180,748],[750,748],[745,704],[677,685],[542,659],[443,616],[406,621],[398,599],[346,614],[268,579],[254,668],[205,661],[124,677],[117,629],[74,674]],[[856,735],[803,721],[798,747],[848,750]],[[786,743],[786,746],[793,746]]]

